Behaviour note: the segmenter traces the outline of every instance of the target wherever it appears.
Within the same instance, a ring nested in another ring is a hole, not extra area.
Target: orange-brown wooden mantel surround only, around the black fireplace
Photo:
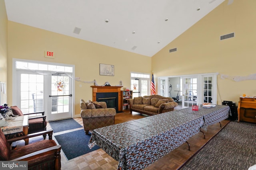
[[[122,86],[91,86],[92,87],[92,101],[96,101],[96,93],[111,93],[118,92],[118,111],[121,107],[121,88]]]

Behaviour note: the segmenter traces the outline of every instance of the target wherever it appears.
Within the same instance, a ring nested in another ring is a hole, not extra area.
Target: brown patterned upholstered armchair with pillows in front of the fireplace
[[[80,108],[84,131],[87,135],[89,130],[114,125],[116,109],[107,108],[106,102],[91,102],[90,100],[85,102],[81,99]]]

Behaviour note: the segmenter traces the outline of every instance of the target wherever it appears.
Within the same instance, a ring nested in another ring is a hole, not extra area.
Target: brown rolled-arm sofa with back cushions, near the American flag
[[[167,111],[173,111],[178,106],[172,98],[160,95],[151,95],[143,97],[135,97],[129,99],[130,112],[136,111],[147,115],[156,115]]]

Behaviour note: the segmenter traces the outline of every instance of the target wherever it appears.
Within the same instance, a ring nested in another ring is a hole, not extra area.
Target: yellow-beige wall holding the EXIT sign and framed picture
[[[44,51],[54,52],[55,59],[45,58]],[[124,87],[130,87],[130,72],[151,72],[151,57],[8,21],[8,77],[12,77],[13,58],[74,64],[75,77],[82,81],[95,79],[100,86],[105,82],[115,86],[122,80]],[[100,63],[114,65],[115,75],[100,76]],[[12,89],[11,78],[8,82],[8,89]],[[92,85],[75,82],[76,115],[80,114],[81,98],[92,100]],[[8,91],[8,103],[12,103],[12,90]]]

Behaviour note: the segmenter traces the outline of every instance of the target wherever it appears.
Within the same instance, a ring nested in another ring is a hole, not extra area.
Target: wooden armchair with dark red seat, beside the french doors
[[[28,118],[28,134],[31,133],[36,133],[36,132],[40,132],[40,131],[46,131],[46,115],[44,115],[44,111],[41,112],[35,112],[35,113],[26,113],[23,114],[22,111],[20,110],[19,107],[17,106],[11,106],[12,108],[12,113],[14,115],[29,115]],[[38,116],[38,114],[40,114]],[[32,116],[30,116],[32,115]],[[44,139],[46,138],[46,135],[43,135]]]

